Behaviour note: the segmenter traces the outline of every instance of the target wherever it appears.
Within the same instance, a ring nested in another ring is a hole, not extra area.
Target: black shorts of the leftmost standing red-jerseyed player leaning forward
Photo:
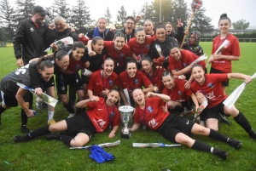
[[[72,75],[60,74],[55,76],[58,94],[67,94],[67,85],[73,87],[75,91],[84,90],[79,73]]]

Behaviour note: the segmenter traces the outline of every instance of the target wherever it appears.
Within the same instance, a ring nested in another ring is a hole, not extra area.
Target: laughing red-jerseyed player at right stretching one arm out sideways
[[[252,77],[240,73],[205,74],[203,67],[200,65],[193,66],[192,77],[194,77],[195,82],[191,84],[191,89],[195,92],[198,101],[202,102],[205,98],[208,100],[207,108],[202,111],[202,113],[205,113],[207,128],[218,130],[218,112],[220,112],[223,115],[232,116],[241,128],[253,139],[256,139],[252,126],[241,111],[238,111],[235,105],[228,108],[223,104],[228,96],[224,94],[221,88],[221,83],[230,78],[244,79],[245,83],[250,83]]]

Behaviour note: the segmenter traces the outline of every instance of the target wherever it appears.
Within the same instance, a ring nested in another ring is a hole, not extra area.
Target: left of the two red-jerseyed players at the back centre
[[[93,54],[90,48],[91,41],[88,42],[88,54]],[[125,71],[125,58],[132,56],[131,48],[125,44],[125,34],[117,31],[114,34],[113,41],[104,41],[104,48],[107,50],[106,57],[114,60],[113,71],[119,75],[121,71]]]

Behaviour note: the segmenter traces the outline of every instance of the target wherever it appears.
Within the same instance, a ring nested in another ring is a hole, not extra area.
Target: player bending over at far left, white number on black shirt
[[[34,111],[28,107],[30,92],[25,88],[20,88],[16,83],[22,83],[27,88],[34,88],[35,94],[41,96],[46,88],[51,88],[54,91],[54,84],[52,84],[54,83],[53,73],[54,66],[52,63],[42,58],[37,63],[32,62],[31,64],[22,66],[3,77],[1,81],[2,105],[0,106],[0,116],[6,109],[16,107],[19,104],[21,106],[20,130],[23,133],[29,133],[30,130],[26,128],[27,118],[35,116]],[[33,77],[40,77],[37,84],[41,87],[34,87]],[[49,120],[51,119],[53,119],[53,113],[49,115]]]

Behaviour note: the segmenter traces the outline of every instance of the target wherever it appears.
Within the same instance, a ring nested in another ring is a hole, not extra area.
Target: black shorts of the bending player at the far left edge
[[[27,91],[27,93],[23,96],[23,99],[25,100],[25,102],[29,102],[30,94],[31,93]],[[19,105],[18,101],[16,100],[15,94],[5,94],[2,90],[1,90],[1,101],[2,101],[2,104],[7,105],[9,107],[16,107]]]

